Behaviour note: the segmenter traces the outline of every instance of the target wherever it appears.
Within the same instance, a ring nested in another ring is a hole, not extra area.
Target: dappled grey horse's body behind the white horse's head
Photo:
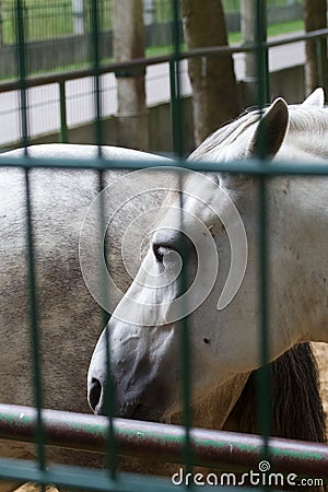
[[[21,156],[23,150],[8,152],[8,156]],[[106,159],[152,160],[163,157],[126,149],[103,148]],[[89,145],[35,145],[28,155],[38,159],[87,159],[97,155],[97,149]],[[161,174],[161,179],[159,179]],[[126,175],[122,171],[104,173],[104,184],[113,184]],[[37,285],[38,326],[43,373],[43,406],[57,410],[89,412],[86,374],[92,348],[104,326],[99,306],[85,286],[79,260],[79,236],[85,213],[97,196],[98,176],[93,171],[32,169],[30,172],[33,214],[33,236]],[[128,225],[140,214],[139,232],[129,235],[127,260],[130,271],[137,271],[142,251],[140,243],[150,231],[151,218],[144,212],[160,206],[176,177],[168,172],[151,171],[142,174],[125,194],[134,196],[124,210],[118,210],[108,229],[108,265],[117,285],[125,292],[131,278],[122,262],[120,244]],[[162,185],[161,185],[162,184]],[[175,185],[174,185],[175,186]],[[152,191],[139,195],[142,187]],[[115,189],[115,188],[114,188]],[[25,174],[21,168],[0,168],[0,330],[2,350],[0,356],[2,403],[34,405],[31,354],[31,328],[28,321],[28,280],[26,246]],[[110,194],[106,206],[115,211],[121,197]],[[96,270],[95,238],[86,231],[85,248],[90,262]],[[248,375],[238,375],[222,386],[207,401],[195,408],[199,425],[221,429],[237,401]],[[14,389],[13,389],[14,388]],[[176,417],[178,419],[178,417]],[[33,445],[1,440],[0,456],[31,458],[36,456]],[[47,447],[51,462],[80,466],[101,466],[103,457],[72,450]],[[167,475],[164,464],[125,458],[122,468],[131,471],[149,471]],[[174,468],[171,469],[172,472]],[[0,490],[11,490],[1,481]]]

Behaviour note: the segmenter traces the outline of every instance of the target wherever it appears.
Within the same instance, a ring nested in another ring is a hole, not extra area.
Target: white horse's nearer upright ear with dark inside
[[[250,141],[247,156],[274,157],[283,142],[289,119],[289,107],[279,97],[260,119]]]

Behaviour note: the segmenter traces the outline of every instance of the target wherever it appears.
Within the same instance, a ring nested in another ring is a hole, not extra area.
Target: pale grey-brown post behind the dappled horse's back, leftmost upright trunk
[[[114,0],[113,45],[117,61],[144,57],[142,0]],[[122,147],[149,149],[144,69],[127,68],[116,73],[118,142]]]

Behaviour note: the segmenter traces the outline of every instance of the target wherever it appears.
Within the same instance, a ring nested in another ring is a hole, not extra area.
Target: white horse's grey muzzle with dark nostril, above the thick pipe
[[[105,329],[87,374],[87,401],[95,414],[161,421],[169,401],[172,378],[163,378],[147,351],[110,351],[107,363]],[[138,353],[137,353],[138,352]]]

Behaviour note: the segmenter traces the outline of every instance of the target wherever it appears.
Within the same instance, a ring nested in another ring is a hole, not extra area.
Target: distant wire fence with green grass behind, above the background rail
[[[286,4],[271,1],[268,23],[302,20],[302,2]],[[110,0],[99,1],[99,49],[102,62],[113,58]],[[172,43],[169,0],[144,3],[145,40],[148,48],[167,47]],[[230,32],[241,31],[238,2],[226,2],[226,24]],[[150,15],[150,10],[152,14]],[[0,23],[0,79],[16,75],[15,9],[3,0]],[[24,22],[26,61],[30,73],[49,70],[72,70],[90,63],[90,3],[81,1],[37,2],[25,0]],[[181,30],[181,26],[180,26]]]

